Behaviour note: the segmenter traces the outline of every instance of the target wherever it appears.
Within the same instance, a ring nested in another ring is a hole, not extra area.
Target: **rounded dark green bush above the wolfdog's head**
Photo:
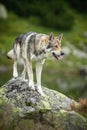
[[[74,24],[74,17],[66,10],[59,14],[48,12],[45,16],[42,17],[42,23],[48,27],[68,30],[71,29]]]

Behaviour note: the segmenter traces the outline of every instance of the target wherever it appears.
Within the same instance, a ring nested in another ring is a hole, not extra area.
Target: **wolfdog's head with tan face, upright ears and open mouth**
[[[51,33],[49,36],[47,51],[51,53],[57,60],[61,59],[64,55],[64,52],[61,48],[62,37],[63,34],[60,34],[58,37],[54,37],[53,33]]]

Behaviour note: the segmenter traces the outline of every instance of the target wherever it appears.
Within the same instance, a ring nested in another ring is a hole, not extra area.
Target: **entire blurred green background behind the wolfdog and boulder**
[[[46,61],[42,85],[71,98],[87,97],[87,1],[0,2],[7,10],[7,17],[0,17],[0,86],[12,77],[13,62],[6,58],[6,53],[16,36],[28,31],[53,32],[55,36],[62,32],[65,57],[60,61]]]

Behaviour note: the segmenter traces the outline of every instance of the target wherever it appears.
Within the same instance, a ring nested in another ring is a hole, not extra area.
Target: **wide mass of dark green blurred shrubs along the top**
[[[48,27],[67,30],[74,24],[73,13],[64,0],[5,0],[4,4],[20,16],[38,17],[41,24]]]

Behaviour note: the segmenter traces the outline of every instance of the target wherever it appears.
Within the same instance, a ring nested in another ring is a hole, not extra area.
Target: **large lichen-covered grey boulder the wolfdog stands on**
[[[74,100],[42,88],[45,97],[31,90],[21,78],[4,84],[0,89],[0,129],[87,130],[86,118],[71,110]]]

